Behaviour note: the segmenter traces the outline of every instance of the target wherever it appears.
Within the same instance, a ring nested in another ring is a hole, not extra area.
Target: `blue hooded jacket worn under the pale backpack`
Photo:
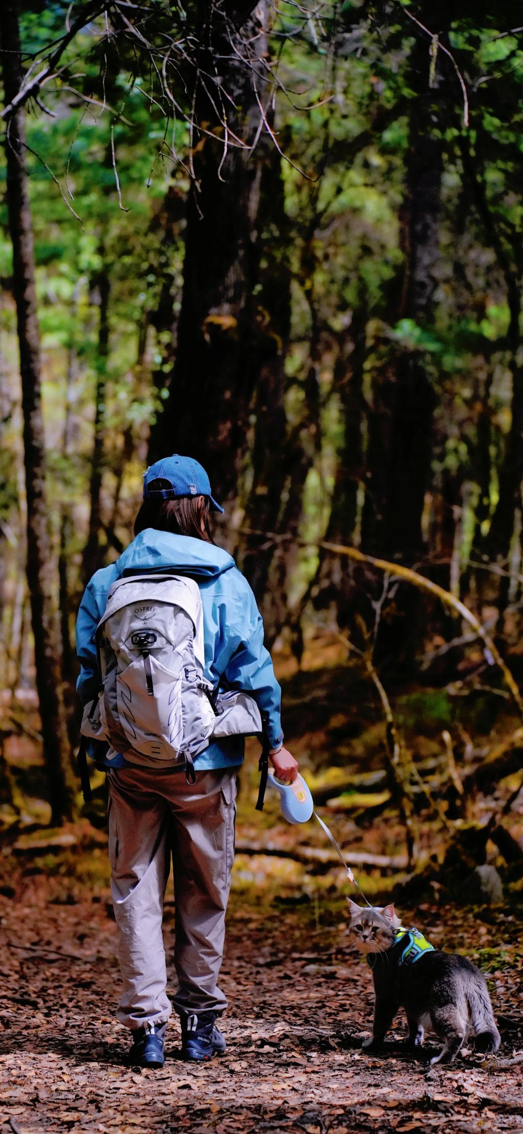
[[[264,646],[264,624],[252,591],[234,560],[213,543],[147,527],[122,552],[115,564],[95,572],[86,586],[76,623],[76,650],[80,675],[76,687],[83,704],[96,696],[96,626],[105,610],[108,592],[125,570],[136,574],[155,567],[179,570],[198,583],[204,608],[205,676],[214,688],[246,689],[255,697],[272,747],[283,739],[280,720],[281,689],[271,654]],[[96,743],[89,754],[96,758]],[[214,741],[198,756],[196,768],[231,768],[243,760],[243,738]],[[104,767],[121,768],[119,753],[103,760]]]

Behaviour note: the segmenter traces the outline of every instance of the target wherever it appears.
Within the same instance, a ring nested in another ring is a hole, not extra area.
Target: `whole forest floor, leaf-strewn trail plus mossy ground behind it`
[[[223,1017],[228,1051],[209,1064],[182,1063],[173,1017],[164,1069],[127,1068],[129,1036],[113,1016],[119,971],[102,777],[97,811],[91,813],[94,826],[84,818],[53,832],[46,826],[38,746],[14,735],[6,751],[20,810],[14,822],[6,809],[0,852],[0,1134],[523,1129],[520,864],[507,865],[488,844],[488,861],[505,886],[497,906],[463,905],[471,899],[466,878],[462,905],[437,881],[423,892],[409,888],[404,830],[383,782],[372,787],[368,780],[363,794],[357,782],[336,798],[349,771],[362,782],[383,768],[383,721],[370,699],[358,697],[358,691],[348,695],[345,683],[345,674],[336,670],[286,683],[292,750],[318,798],[321,784],[332,784],[334,798],[321,814],[349,861],[359,862],[355,872],[368,897],[394,895],[404,922],[417,924],[436,947],[480,966],[501,1033],[500,1051],[478,1056],[471,1050],[452,1066],[430,1070],[434,1036],[419,1053],[405,1051],[400,1017],[383,1052],[361,1050],[374,995],[370,972],[346,933],[346,875],[314,822],[293,828],[282,820],[276,793],[267,793],[263,814],[254,811],[252,751],[241,775],[239,853],[222,970],[230,1001]],[[492,711],[486,702],[482,718],[478,699],[473,705],[465,699],[457,703],[463,709],[453,717],[454,702],[445,691],[396,696],[396,719],[423,776],[440,776],[441,729],[451,729],[466,771],[514,728],[499,697]],[[351,705],[358,705],[355,721]],[[470,734],[473,752],[462,752],[460,743]],[[503,802],[515,782],[508,777],[492,797],[477,793],[474,821],[486,822],[497,796]],[[420,821],[421,855],[441,860],[445,826],[427,809]],[[521,799],[505,823],[521,843]],[[380,856],[378,868],[372,855]],[[172,958],[172,883],[168,892],[164,930]],[[173,992],[172,964],[169,973]]]

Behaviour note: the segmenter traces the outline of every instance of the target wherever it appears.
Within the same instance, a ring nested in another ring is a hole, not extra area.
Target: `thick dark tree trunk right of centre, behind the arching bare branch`
[[[410,100],[400,214],[403,280],[397,301],[392,295],[388,321],[394,325],[408,319],[423,328],[430,325],[437,285],[443,174],[443,141],[436,128],[440,95],[429,86],[425,40],[414,44],[408,81],[417,98]],[[392,347],[388,340],[379,342],[368,412],[361,545],[369,553],[405,565],[415,562],[423,552],[421,522],[430,481],[434,407],[421,353]],[[400,585],[394,610],[379,626],[376,655],[381,661],[392,660],[396,670],[403,666],[410,671],[413,665],[419,645],[419,601],[418,594]]]

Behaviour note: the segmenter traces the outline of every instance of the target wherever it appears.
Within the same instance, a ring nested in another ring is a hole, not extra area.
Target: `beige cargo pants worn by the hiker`
[[[234,857],[235,769],[111,769],[109,856],[127,1027],[161,1024],[166,996],[162,913],[171,854],[174,873],[175,1012],[221,1013],[217,988]]]

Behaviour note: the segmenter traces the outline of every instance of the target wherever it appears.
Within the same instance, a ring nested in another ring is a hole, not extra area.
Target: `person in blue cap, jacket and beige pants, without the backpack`
[[[82,599],[77,691],[84,705],[97,696],[95,633],[112,584],[125,573],[179,570],[195,579],[202,596],[205,677],[215,692],[242,689],[255,699],[275,773],[293,782],[298,764],[283,747],[281,691],[264,646],[262,616],[234,560],[212,542],[211,510],[223,513],[198,462],[175,454],[144,474],[135,539],[114,564],[95,572]],[[212,741],[197,756],[196,782],[189,784],[179,764],[147,767],[142,754],[135,760],[132,751],[123,756],[91,742],[89,753],[105,769],[109,786],[111,894],[123,984],[117,1017],[131,1030],[134,1066],[164,1064],[172,1007],[162,913],[171,853],[178,978],[173,1006],[180,1016],[182,1058],[204,1060],[225,1050],[215,1021],[228,1001],[217,979],[243,743],[241,736]]]

